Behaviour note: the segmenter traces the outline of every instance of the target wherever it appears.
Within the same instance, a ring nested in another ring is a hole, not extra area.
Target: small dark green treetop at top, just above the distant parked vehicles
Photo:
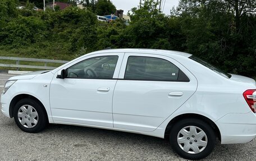
[[[116,12],[116,6],[109,0],[98,0],[95,3],[95,13],[97,15],[110,15]]]

